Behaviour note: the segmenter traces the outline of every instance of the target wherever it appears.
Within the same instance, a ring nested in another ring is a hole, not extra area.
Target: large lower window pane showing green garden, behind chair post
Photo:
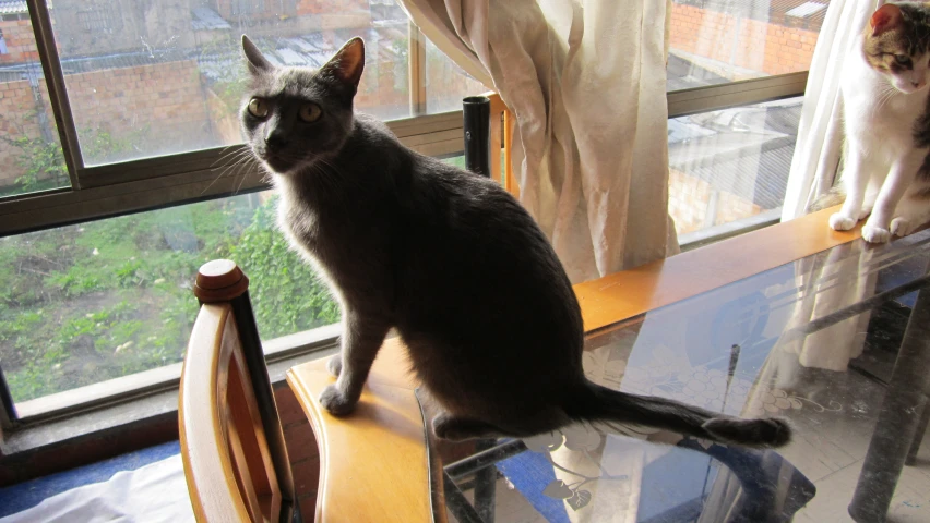
[[[0,362],[15,402],[180,362],[196,269],[249,276],[263,339],[338,320],[271,192],[0,239]]]

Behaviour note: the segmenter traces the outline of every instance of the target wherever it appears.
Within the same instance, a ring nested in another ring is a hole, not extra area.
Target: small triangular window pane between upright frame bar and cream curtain
[[[427,40],[426,92],[427,113],[462,110],[462,98],[491,89],[473,78]]]

